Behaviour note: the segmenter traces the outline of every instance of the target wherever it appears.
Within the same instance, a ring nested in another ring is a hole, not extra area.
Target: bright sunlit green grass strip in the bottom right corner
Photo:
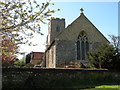
[[[120,90],[120,85],[102,85],[102,86],[96,86],[95,88],[83,89],[83,90]]]

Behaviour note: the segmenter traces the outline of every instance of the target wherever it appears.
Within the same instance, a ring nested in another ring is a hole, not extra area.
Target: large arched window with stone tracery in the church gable
[[[89,42],[86,33],[82,31],[77,38],[77,60],[85,60],[89,51]]]

